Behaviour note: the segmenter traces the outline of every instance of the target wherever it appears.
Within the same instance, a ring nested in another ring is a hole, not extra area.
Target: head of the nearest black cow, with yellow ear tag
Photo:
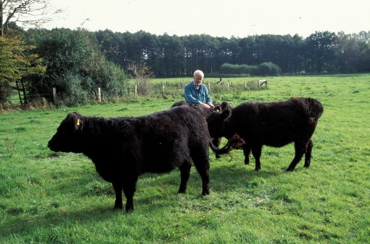
[[[81,142],[85,117],[77,112],[70,113],[60,123],[57,133],[48,142],[52,151],[82,153]]]

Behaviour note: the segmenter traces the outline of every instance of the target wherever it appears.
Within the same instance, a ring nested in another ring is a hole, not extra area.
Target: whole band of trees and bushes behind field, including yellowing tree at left
[[[369,72],[369,40],[370,31],[316,31],[306,39],[269,34],[226,38],[80,28],[24,31],[8,24],[0,36],[0,103],[9,100],[20,79],[30,95],[51,94],[56,87],[62,105],[88,103],[97,87],[103,99],[112,100],[127,93],[133,63],[150,67],[150,77],[191,77],[196,69],[208,77]]]

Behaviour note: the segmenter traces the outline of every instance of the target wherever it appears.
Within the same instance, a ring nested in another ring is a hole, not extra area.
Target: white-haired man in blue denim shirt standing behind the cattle
[[[197,104],[204,108],[214,108],[207,86],[202,84],[204,74],[201,70],[195,70],[193,81],[184,88],[185,100],[189,104]]]

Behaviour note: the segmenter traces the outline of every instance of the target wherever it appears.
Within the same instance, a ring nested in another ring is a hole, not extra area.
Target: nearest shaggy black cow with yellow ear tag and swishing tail
[[[134,209],[133,195],[139,175],[165,173],[178,167],[179,193],[185,193],[191,158],[202,178],[202,195],[209,194],[208,147],[219,154],[240,147],[233,138],[223,148],[213,146],[205,118],[193,108],[180,106],[142,117],[102,118],[70,113],[61,122],[48,147],[53,151],[84,153],[97,172],[113,184],[114,209]]]

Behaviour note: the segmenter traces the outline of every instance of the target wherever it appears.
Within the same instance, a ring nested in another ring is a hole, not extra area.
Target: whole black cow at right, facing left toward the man
[[[317,120],[323,113],[319,101],[313,98],[292,98],[272,103],[242,103],[232,109],[213,112],[207,117],[211,137],[231,138],[238,134],[245,140],[245,164],[249,164],[252,151],[256,160],[255,170],[261,168],[263,145],[282,147],[295,143],[295,157],[287,171],[293,171],[305,154],[305,167],[310,166],[312,134]]]

